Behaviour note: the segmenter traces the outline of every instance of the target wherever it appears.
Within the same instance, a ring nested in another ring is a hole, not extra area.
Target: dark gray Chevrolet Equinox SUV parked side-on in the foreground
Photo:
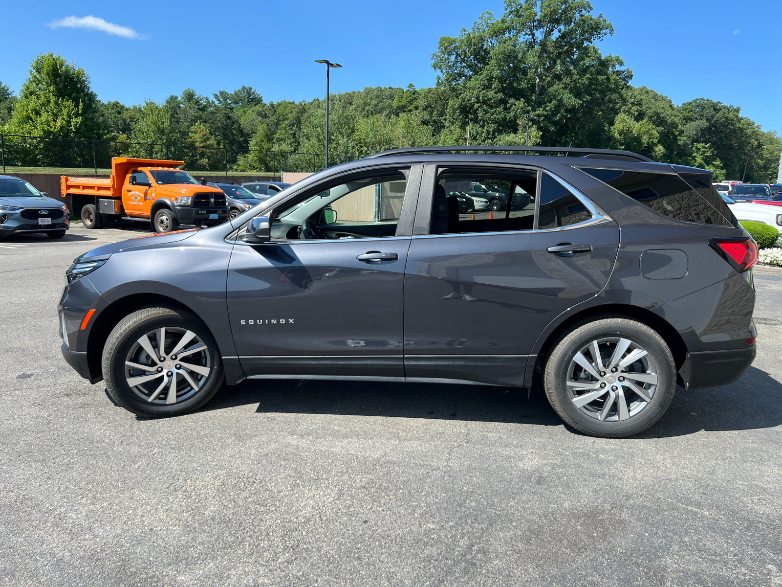
[[[461,213],[444,186],[470,182],[529,202]],[[529,388],[537,374],[566,423],[622,437],[676,384],[748,369],[757,257],[709,171],[607,149],[396,149],[224,225],[78,257],[62,350],[142,416],[246,379]]]

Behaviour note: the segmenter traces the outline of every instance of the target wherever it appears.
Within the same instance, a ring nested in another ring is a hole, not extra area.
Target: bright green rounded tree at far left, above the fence
[[[30,74],[7,125],[9,133],[102,139],[102,117],[90,77],[51,52],[30,63]]]

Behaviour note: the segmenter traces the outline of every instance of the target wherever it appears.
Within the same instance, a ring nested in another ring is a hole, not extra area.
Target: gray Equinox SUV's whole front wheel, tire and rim
[[[106,390],[140,416],[177,416],[217,393],[223,367],[209,329],[174,308],[143,308],[109,334],[102,357]]]

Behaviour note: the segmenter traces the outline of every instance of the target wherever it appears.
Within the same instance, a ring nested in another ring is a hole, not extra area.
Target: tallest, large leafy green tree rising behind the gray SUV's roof
[[[432,55],[438,85],[454,90],[444,127],[475,129],[471,143],[518,131],[533,113],[543,145],[599,146],[632,73],[594,45],[613,34],[587,0],[505,0],[472,29],[442,37]],[[445,129],[444,129],[445,131]]]

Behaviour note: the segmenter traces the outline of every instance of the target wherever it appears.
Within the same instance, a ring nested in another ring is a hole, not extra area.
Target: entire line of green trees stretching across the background
[[[612,24],[588,0],[505,0],[432,54],[431,88],[375,87],[331,96],[329,164],[426,145],[529,144],[629,149],[654,160],[711,169],[715,178],[772,182],[782,152],[739,106],[698,98],[676,105],[631,84],[619,56],[597,42]],[[18,98],[0,83],[5,134],[109,139],[195,147],[195,167],[235,153],[235,171],[270,171],[271,151],[323,153],[325,100],[265,102],[255,88],[211,97],[187,88],[163,103],[104,103],[88,74],[52,53],[37,56]],[[163,157],[161,148],[134,154]],[[308,155],[302,161],[311,164]],[[194,167],[194,168],[195,168]],[[206,168],[206,167],[204,167]]]

